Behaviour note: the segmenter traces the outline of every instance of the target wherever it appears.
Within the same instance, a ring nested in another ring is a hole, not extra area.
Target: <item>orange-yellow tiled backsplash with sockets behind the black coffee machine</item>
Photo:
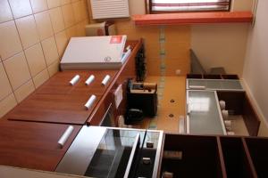
[[[179,132],[179,118],[185,116],[186,77],[147,77],[146,82],[157,83],[158,110],[154,118],[145,118],[137,127]],[[174,102],[172,102],[172,100]]]

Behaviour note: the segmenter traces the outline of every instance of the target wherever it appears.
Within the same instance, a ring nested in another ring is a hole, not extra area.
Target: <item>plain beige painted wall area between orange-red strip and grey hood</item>
[[[247,48],[248,24],[193,25],[191,48],[206,71],[224,67],[242,75]]]

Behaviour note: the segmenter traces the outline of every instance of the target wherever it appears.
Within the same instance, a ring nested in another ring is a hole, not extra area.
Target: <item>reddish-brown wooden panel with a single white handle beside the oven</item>
[[[68,125],[20,121],[0,122],[0,165],[54,171],[81,126],[74,130],[63,148],[58,140]]]

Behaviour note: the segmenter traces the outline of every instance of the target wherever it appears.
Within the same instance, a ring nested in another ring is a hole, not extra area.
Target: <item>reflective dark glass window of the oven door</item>
[[[143,142],[143,131],[107,129],[85,175],[100,178],[123,177],[137,134],[140,134],[140,142]]]

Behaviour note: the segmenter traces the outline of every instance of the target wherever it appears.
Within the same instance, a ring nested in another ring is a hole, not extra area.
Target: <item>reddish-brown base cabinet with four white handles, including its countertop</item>
[[[114,102],[115,89],[118,85],[122,85],[123,90],[125,90],[127,78],[136,75],[135,56],[141,45],[141,40],[129,41],[126,46],[128,45],[130,45],[132,53],[121,69],[58,72],[4,116],[4,119],[79,125],[84,125],[87,120],[89,124],[91,120],[92,125],[99,125],[106,109]],[[79,82],[70,85],[71,78],[77,74],[80,75]],[[90,75],[94,75],[95,80],[90,85],[85,85],[85,81]],[[101,85],[106,75],[110,75],[111,79],[107,85]],[[95,94],[97,100],[87,110],[84,105],[91,94]],[[124,92],[124,100],[119,109],[113,110],[114,117],[119,116],[117,113],[124,113],[125,106]]]

